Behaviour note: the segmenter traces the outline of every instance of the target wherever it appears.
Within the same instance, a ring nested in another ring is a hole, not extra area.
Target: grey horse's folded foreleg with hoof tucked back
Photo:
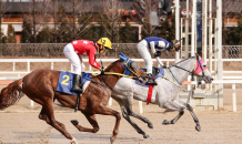
[[[174,102],[165,103],[164,107],[173,111],[179,111],[179,114],[171,121],[164,120],[162,124],[174,124],[184,114],[184,109]]]

